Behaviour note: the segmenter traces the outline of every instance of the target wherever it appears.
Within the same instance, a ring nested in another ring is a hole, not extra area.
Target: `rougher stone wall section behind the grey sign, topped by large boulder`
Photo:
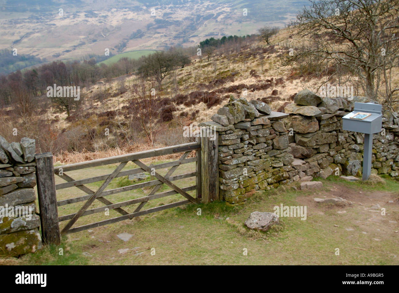
[[[285,107],[290,114],[285,123],[291,127],[290,147],[296,160],[299,180],[304,176],[327,178],[339,170],[340,174],[361,176],[364,135],[342,130],[342,117],[353,111],[354,97],[321,98],[309,90],[300,91],[294,103]],[[375,174],[397,176],[398,131],[394,125],[397,114],[385,113],[385,135],[375,134],[373,141],[373,169]],[[383,125],[383,127],[384,127]],[[391,132],[390,132],[391,131]],[[337,169],[338,168],[338,169]]]

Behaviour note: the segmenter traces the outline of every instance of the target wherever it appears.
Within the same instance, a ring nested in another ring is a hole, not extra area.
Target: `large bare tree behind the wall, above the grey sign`
[[[399,0],[311,0],[297,15],[293,29],[306,39],[283,65],[311,61],[312,71],[333,78],[357,77],[366,95],[377,101],[379,79],[387,88],[384,101],[399,89],[391,85],[391,69],[399,57]],[[381,98],[381,97],[380,97]]]

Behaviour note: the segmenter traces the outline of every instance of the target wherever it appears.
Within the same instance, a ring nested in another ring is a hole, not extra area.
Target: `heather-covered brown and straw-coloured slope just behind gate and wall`
[[[277,40],[284,39],[284,46],[291,46],[294,39],[288,36],[287,29],[281,30],[271,43],[277,44]],[[215,54],[209,61],[206,57],[199,59],[193,56],[191,65],[176,69],[169,75],[157,97],[160,118],[155,145],[175,145],[192,140],[182,136],[182,127],[209,120],[230,95],[260,98],[273,110],[283,111],[284,105],[298,91],[312,88],[317,83],[301,79],[298,73],[280,67],[279,58],[287,50],[283,46],[268,46],[249,40],[232,48],[227,55],[223,52]],[[134,75],[122,75],[109,81],[100,80],[89,88],[84,87],[79,107],[70,117],[52,108],[48,98],[43,96],[39,99],[40,109],[43,109],[41,116],[37,120],[32,117],[36,122],[31,121],[30,126],[34,128],[34,125],[44,124],[48,128],[49,132],[41,135],[44,141],[51,141],[47,137],[50,134],[56,137],[49,149],[55,153],[59,150],[104,151],[109,147],[121,148],[126,143],[147,145],[140,119],[135,116],[131,104],[129,86],[135,81]],[[6,113],[11,115],[12,110]],[[2,117],[7,119],[7,115]],[[23,124],[24,121],[18,123]],[[30,127],[23,128],[37,133]],[[110,129],[109,137],[104,136],[106,128]],[[2,133],[11,133],[11,129],[12,125],[4,123]]]

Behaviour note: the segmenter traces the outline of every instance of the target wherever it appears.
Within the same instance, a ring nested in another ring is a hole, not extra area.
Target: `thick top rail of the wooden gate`
[[[196,150],[201,148],[201,145],[194,142],[194,143],[184,143],[182,145],[175,145],[175,146],[168,146],[164,148],[157,148],[155,150],[145,150],[142,152],[135,152],[132,154],[123,154],[120,156],[113,156],[110,158],[102,158],[97,160],[91,160],[88,162],[81,162],[75,164],[69,164],[65,166],[59,166],[54,168],[54,172],[59,172],[58,169],[62,168],[63,172],[79,170],[84,168],[91,168],[109,164],[115,164],[120,162],[128,162],[132,160],[141,160],[144,158],[151,158],[156,156],[164,156],[166,154],[174,154],[176,152],[184,152],[187,150]]]

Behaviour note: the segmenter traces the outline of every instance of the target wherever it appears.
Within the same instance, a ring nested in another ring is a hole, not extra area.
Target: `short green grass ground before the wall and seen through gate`
[[[114,168],[115,166],[100,166],[93,168],[93,172],[89,174],[109,174]],[[191,172],[193,168],[194,163],[182,165],[173,175]],[[77,174],[70,175],[73,178],[88,176],[74,172]],[[166,172],[166,169],[160,170],[161,174]],[[395,231],[399,221],[399,207],[397,203],[387,202],[398,197],[399,182],[385,179],[385,184],[371,185],[347,182],[336,176],[317,180],[324,184],[320,190],[301,191],[294,188],[298,184],[280,186],[277,189],[255,192],[245,204],[239,206],[227,206],[225,202],[189,204],[69,234],[62,240],[62,257],[58,255],[59,247],[49,246],[38,253],[23,256],[21,260],[23,264],[34,265],[398,265],[395,255],[399,241]],[[110,188],[126,186],[130,182],[124,177],[116,178],[111,182]],[[194,184],[194,178],[176,183],[179,187]],[[101,183],[87,185],[94,189]],[[337,196],[337,192],[340,196],[340,190],[345,192],[342,197],[351,192],[352,196],[356,196],[357,203],[336,207],[316,205],[313,201],[315,197],[329,197],[334,192],[334,196]],[[107,196],[107,199],[118,202],[144,196],[149,191],[136,190],[135,193],[126,192],[126,195],[119,198],[117,194],[114,198]],[[77,196],[76,193],[61,192],[63,190],[59,193],[62,198]],[[184,198],[180,195],[160,198],[148,202],[149,206],[144,209],[182,199]],[[369,210],[376,202],[387,208],[386,216],[381,216],[378,210]],[[280,204],[307,206],[307,219],[283,217],[280,218],[280,226],[275,226],[268,232],[248,230],[243,225],[251,212],[273,212],[273,207]],[[75,212],[78,207],[74,205],[59,207],[60,214]],[[95,205],[102,204],[96,202]],[[126,210],[131,212],[134,208],[135,206],[126,207]],[[119,215],[113,211],[111,213],[114,214],[109,217]],[[92,218],[89,220],[90,217]],[[85,224],[86,221],[103,219],[103,213],[99,213],[82,217],[79,221]],[[66,222],[61,225],[64,223]],[[347,230],[349,228],[351,230]],[[124,242],[117,237],[120,233],[133,236]],[[126,248],[130,250],[119,253],[120,249]],[[340,249],[340,255],[335,255],[336,248]],[[155,255],[151,255],[151,249],[155,249]],[[243,255],[243,249],[247,249],[247,255]]]

